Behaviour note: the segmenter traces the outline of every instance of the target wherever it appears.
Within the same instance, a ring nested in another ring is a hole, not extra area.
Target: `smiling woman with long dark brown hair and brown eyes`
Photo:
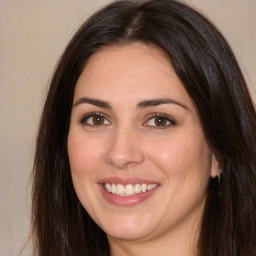
[[[255,121],[201,14],[167,0],[98,11],[45,102],[35,255],[255,255]]]

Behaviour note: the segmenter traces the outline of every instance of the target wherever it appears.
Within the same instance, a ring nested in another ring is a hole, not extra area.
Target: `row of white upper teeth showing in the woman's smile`
[[[115,195],[119,196],[132,196],[139,193],[144,193],[157,187],[157,184],[128,184],[126,186],[122,184],[112,184],[106,183],[104,185],[105,189]]]

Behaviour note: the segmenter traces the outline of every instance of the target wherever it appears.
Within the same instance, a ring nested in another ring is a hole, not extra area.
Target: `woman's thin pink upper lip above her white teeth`
[[[103,179],[100,179],[98,181],[98,184],[122,184],[122,185],[128,185],[128,184],[159,184],[156,181],[151,181],[151,180],[146,180],[146,179],[140,179],[136,177],[126,177],[126,178],[121,178],[121,177],[106,177]]]

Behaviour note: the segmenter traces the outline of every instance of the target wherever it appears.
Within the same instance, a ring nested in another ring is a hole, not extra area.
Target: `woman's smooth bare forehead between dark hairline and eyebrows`
[[[109,46],[95,53],[77,81],[75,99],[81,96],[105,100],[123,96],[127,102],[168,96],[192,105],[169,57],[142,43]]]

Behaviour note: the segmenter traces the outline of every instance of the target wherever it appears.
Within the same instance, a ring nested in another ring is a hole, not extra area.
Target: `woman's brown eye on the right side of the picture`
[[[143,125],[163,129],[175,124],[176,122],[166,114],[153,114]]]

